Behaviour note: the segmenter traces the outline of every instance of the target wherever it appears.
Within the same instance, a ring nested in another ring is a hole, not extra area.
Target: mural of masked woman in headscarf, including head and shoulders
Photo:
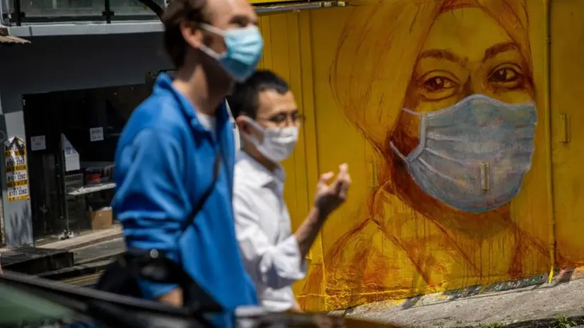
[[[540,133],[525,1],[351,4],[329,79],[375,149],[379,187],[323,246],[305,309],[310,295],[343,308],[547,271],[547,241],[511,204]]]

